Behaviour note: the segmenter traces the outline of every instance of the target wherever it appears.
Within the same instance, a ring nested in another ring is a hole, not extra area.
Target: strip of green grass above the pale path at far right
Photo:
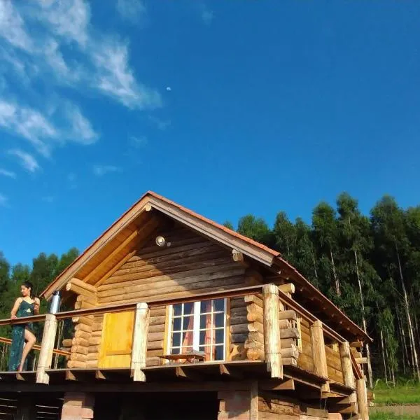
[[[377,381],[374,387],[375,404],[420,404],[420,385],[414,381],[400,381],[396,386]]]

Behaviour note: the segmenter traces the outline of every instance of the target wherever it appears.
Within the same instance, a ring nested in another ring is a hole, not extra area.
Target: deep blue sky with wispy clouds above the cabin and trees
[[[419,204],[419,1],[0,0],[0,250],[146,190],[223,223]]]

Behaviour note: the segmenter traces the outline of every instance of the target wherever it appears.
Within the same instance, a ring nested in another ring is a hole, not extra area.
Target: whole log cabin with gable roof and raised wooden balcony
[[[370,337],[280,253],[156,193],[42,296],[56,290],[71,310],[31,317],[38,363],[0,372],[0,419],[369,418]]]

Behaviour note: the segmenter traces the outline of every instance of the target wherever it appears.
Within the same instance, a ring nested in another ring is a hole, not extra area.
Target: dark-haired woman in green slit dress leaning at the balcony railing
[[[10,318],[15,319],[39,314],[39,299],[38,297],[32,296],[32,288],[32,283],[29,283],[29,281],[25,281],[25,283],[20,286],[22,297],[16,299],[13,309],[10,312]],[[31,322],[13,325],[12,345],[10,346],[10,360],[8,366],[9,370],[22,372],[22,370],[27,369],[27,356],[36,342],[32,328],[33,325]]]

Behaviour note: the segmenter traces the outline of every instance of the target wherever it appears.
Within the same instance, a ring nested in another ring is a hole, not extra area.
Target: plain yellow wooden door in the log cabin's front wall
[[[104,315],[98,367],[130,367],[134,311]]]

